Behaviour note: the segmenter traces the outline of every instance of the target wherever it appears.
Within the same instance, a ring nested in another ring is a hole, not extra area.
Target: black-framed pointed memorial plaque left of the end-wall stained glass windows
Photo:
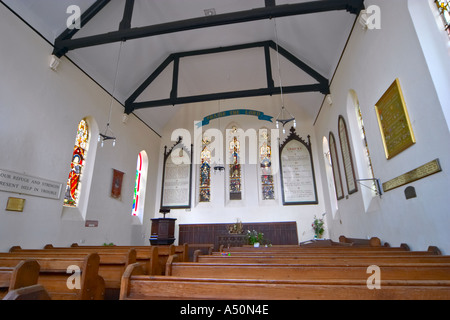
[[[169,151],[165,147],[161,209],[191,208],[192,148],[187,150],[181,137]]]

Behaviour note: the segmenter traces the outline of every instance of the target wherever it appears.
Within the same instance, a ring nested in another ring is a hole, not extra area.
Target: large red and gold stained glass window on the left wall
[[[69,179],[67,180],[64,196],[64,206],[77,207],[80,197],[83,169],[86,164],[86,155],[89,147],[89,127],[86,120],[78,124],[75,147],[70,164]]]

